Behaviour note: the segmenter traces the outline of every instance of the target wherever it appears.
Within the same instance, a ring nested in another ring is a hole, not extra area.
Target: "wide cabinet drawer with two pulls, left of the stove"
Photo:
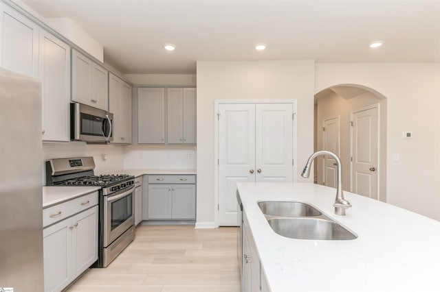
[[[98,192],[83,195],[67,202],[43,209],[43,227],[61,221],[98,204]]]

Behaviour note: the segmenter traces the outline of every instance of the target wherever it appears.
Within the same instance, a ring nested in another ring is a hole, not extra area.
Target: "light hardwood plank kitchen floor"
[[[68,292],[239,292],[234,227],[137,226],[105,269],[89,269]]]

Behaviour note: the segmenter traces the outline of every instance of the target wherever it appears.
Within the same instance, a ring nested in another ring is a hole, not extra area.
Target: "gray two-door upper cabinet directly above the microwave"
[[[72,101],[109,110],[109,71],[72,49]]]

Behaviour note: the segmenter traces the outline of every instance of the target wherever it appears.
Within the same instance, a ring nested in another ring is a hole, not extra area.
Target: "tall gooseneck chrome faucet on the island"
[[[347,201],[347,199],[344,199],[344,193],[342,193],[342,163],[339,157],[336,156],[336,154],[324,150],[311,154],[309,160],[307,160],[307,164],[303,169],[303,173],[301,173],[301,176],[303,178],[309,178],[311,162],[313,162],[313,160],[320,155],[329,155],[336,160],[336,167],[338,167],[338,186],[336,188],[336,199],[335,199],[335,203],[333,204],[333,207],[335,207],[336,215],[345,215],[345,209],[350,208],[351,204],[349,201]]]

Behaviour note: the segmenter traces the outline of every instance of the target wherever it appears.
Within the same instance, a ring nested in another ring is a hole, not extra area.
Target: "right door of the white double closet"
[[[256,182],[292,182],[293,104],[256,104]]]

